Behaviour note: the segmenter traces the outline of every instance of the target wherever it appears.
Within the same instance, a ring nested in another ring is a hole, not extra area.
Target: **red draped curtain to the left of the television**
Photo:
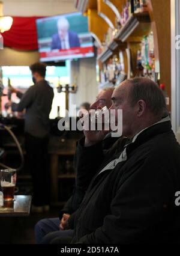
[[[37,29],[35,20],[40,17],[13,17],[13,25],[2,34],[4,46],[17,50],[37,50]]]

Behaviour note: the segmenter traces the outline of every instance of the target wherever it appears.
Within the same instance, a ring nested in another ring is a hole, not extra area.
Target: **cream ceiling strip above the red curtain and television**
[[[4,15],[50,16],[77,11],[74,0],[2,0]]]

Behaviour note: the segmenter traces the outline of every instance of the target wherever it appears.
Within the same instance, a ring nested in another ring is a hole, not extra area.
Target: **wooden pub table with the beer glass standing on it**
[[[14,202],[4,202],[0,207],[0,244],[11,243],[17,217],[28,217],[31,209],[30,195],[16,195]]]

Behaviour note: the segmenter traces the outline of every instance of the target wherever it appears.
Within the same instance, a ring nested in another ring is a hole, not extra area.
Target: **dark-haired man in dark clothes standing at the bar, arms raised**
[[[49,114],[54,97],[53,89],[45,80],[46,65],[37,62],[30,67],[34,85],[25,94],[15,88],[13,93],[20,97],[20,103],[11,103],[12,111],[25,114],[25,148],[29,172],[32,175],[33,199],[32,210],[43,212],[49,210],[49,170],[47,149],[49,141]]]

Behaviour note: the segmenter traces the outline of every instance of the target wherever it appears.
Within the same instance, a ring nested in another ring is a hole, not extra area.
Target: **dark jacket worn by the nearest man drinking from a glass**
[[[148,127],[123,149],[105,155],[101,143],[78,147],[84,168],[95,177],[69,219],[75,229],[72,243],[180,241],[180,211],[175,206],[180,146],[170,121]]]

